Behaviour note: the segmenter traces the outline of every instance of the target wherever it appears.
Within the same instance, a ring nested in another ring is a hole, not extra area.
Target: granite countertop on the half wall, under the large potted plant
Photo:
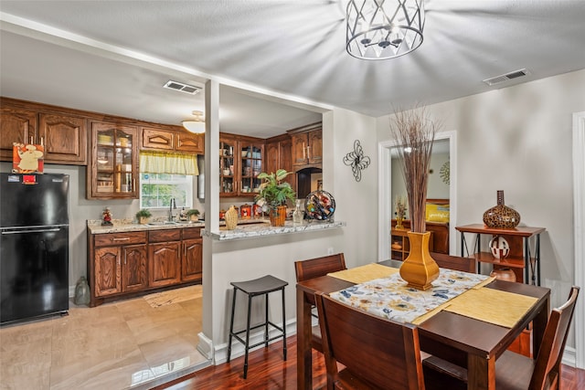
[[[241,238],[266,237],[280,234],[301,233],[314,230],[325,230],[337,227],[345,227],[345,222],[308,222],[303,221],[302,225],[293,225],[293,221],[286,221],[283,227],[272,227],[270,221],[265,224],[238,225],[234,230],[219,228],[219,233],[201,230],[201,236],[211,237],[219,241],[227,241]]]

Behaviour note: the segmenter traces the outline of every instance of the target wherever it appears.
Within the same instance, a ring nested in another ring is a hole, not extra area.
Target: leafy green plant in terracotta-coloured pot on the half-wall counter
[[[259,205],[265,204],[268,207],[271,217],[271,225],[282,227],[286,217],[286,201],[294,202],[296,194],[291,184],[282,182],[286,176],[291,174],[284,169],[279,169],[276,173],[267,174],[262,172],[258,178],[263,180],[260,184],[260,193],[256,195]]]

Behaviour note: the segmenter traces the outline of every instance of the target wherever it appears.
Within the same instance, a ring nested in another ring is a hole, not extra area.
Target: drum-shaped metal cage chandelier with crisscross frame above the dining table
[[[422,43],[423,0],[350,0],[346,50],[360,59],[397,58]]]

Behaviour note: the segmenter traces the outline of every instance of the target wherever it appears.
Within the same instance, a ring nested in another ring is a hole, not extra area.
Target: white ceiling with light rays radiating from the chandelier
[[[2,0],[0,92],[177,124],[203,96],[162,85],[217,79],[221,131],[267,137],[331,106],[378,117],[492,90],[483,79],[517,69],[528,76],[497,88],[585,69],[585,1],[425,5],[417,50],[365,61],[345,51],[346,0]]]

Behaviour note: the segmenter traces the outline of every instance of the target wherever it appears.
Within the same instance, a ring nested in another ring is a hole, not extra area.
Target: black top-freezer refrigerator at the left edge
[[[0,323],[69,310],[69,175],[0,174]]]

